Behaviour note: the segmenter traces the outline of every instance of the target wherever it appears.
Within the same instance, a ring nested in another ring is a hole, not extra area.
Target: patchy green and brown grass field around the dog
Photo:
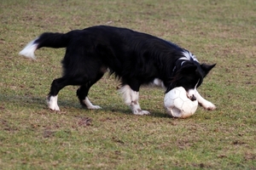
[[[254,0],[2,0],[0,3],[0,169],[256,169],[256,3]],[[105,76],[90,90],[102,110],[79,105],[77,87],[45,97],[61,77],[64,49],[19,51],[44,31],[128,27],[176,42],[217,63],[199,88],[217,105],[166,115],[164,92],[142,88],[150,116],[133,116]]]

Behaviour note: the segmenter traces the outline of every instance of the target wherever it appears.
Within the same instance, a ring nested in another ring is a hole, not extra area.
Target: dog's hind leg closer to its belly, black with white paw
[[[87,109],[101,109],[100,106],[98,105],[92,105],[90,103],[90,99],[87,97],[88,92],[90,90],[90,87],[96,83],[98,80],[102,78],[103,74],[98,74],[96,79],[94,81],[87,82],[86,84],[82,85],[78,90],[77,90],[77,96],[79,98],[80,104],[84,105],[87,107]]]

